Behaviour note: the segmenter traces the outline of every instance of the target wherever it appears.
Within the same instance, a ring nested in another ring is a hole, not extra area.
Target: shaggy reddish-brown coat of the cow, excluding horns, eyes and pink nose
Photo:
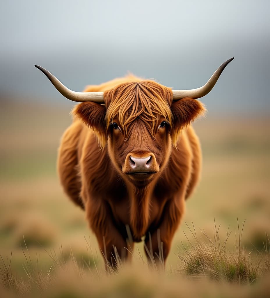
[[[85,91],[105,91],[105,105],[84,102],[73,111],[58,156],[64,190],[86,209],[111,266],[113,246],[128,257],[127,226],[133,242],[145,236],[157,262],[162,243],[166,260],[185,199],[199,179],[201,150],[190,124],[204,107],[192,98],[173,102],[170,88],[132,75]],[[131,155],[151,156],[147,175],[132,173]]]

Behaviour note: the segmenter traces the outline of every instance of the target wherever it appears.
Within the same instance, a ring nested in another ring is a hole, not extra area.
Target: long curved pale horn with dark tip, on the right
[[[227,61],[225,61],[219,68],[214,72],[212,77],[208,80],[208,82],[197,89],[189,89],[189,90],[173,90],[173,100],[179,100],[184,97],[191,97],[191,98],[201,98],[208,94],[212,88],[215,86],[215,83],[217,82],[219,76],[223,72],[224,68],[234,59],[231,58]]]

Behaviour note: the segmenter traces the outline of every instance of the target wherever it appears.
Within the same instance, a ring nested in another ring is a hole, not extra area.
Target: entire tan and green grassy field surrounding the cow
[[[65,197],[56,175],[69,108],[13,99],[1,105],[0,297],[270,293],[270,119],[208,115],[198,120],[201,182],[187,201],[165,272],[148,271],[139,243],[132,265],[119,264],[119,273],[105,274],[84,212]]]

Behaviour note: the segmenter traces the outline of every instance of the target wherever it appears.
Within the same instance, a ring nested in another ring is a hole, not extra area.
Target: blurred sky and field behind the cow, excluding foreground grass
[[[56,175],[74,103],[34,64],[75,91],[127,72],[193,89],[235,57],[201,99],[208,110],[195,123],[201,183],[167,266],[176,266],[178,246],[187,241],[184,222],[212,233],[215,219],[225,237],[237,218],[246,220],[244,245],[263,249],[270,230],[269,1],[1,1],[0,14],[0,254],[12,250],[18,272],[24,241],[46,268],[44,248],[58,254],[62,246],[67,255],[72,248],[83,258],[84,235],[102,266],[84,212]]]

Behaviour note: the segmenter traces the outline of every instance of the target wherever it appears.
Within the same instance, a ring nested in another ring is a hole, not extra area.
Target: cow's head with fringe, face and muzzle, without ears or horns
[[[143,81],[111,89],[104,99],[111,160],[124,179],[143,187],[159,175],[169,157],[172,92]]]

